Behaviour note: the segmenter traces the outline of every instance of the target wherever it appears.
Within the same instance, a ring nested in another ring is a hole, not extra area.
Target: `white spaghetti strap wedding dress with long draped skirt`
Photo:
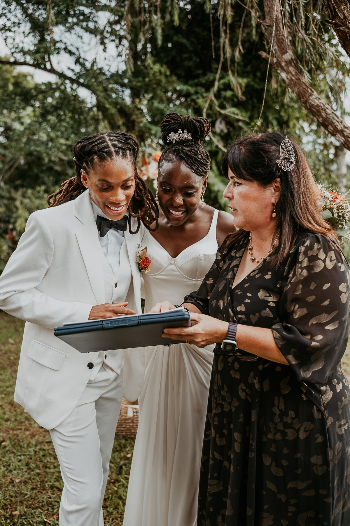
[[[145,231],[142,246],[151,259],[144,276],[146,312],[164,300],[181,304],[198,289],[218,249],[217,218],[215,210],[208,234],[176,258]],[[123,526],[195,526],[213,348],[146,348]]]

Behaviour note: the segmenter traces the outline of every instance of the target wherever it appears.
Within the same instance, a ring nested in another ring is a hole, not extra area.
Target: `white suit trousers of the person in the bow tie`
[[[103,526],[102,503],[116,423],[122,375],[105,363],[70,415],[50,430],[65,486],[59,526]]]

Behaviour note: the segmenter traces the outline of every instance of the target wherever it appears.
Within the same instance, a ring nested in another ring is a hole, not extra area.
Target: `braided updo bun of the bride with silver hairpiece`
[[[210,157],[208,152],[201,146],[206,136],[210,133],[211,124],[204,117],[188,117],[178,113],[169,113],[160,125],[162,141],[165,145],[158,166],[163,163],[172,162],[175,159],[184,161],[186,165],[199,177],[206,177],[210,170]],[[183,132],[191,134],[190,140],[179,140],[168,143],[169,134]]]

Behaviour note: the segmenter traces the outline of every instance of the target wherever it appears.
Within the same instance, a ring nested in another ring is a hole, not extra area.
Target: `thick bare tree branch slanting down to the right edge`
[[[271,45],[273,0],[263,0],[263,3],[266,24],[261,24],[261,30]],[[317,95],[315,90],[299,72],[293,51],[286,42],[279,2],[275,21],[274,56],[271,58],[271,64],[281,75],[291,92],[298,98],[300,104],[315,118],[317,123],[327,130],[344,148],[350,150],[350,127]],[[269,59],[267,53],[261,51],[259,54],[263,58]]]

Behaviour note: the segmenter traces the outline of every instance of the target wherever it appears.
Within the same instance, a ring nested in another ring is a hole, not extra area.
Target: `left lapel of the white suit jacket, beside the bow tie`
[[[80,252],[97,305],[101,305],[105,303],[103,269],[101,265],[102,249],[88,191],[77,197],[75,216],[82,222],[80,230],[76,232]]]

